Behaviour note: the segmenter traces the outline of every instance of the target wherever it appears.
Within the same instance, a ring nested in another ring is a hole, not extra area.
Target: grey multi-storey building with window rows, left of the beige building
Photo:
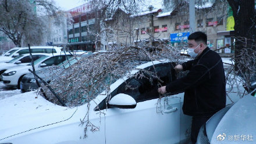
[[[100,30],[99,13],[90,3],[69,10],[72,22],[67,25],[67,47],[70,51],[95,51],[95,35]]]

